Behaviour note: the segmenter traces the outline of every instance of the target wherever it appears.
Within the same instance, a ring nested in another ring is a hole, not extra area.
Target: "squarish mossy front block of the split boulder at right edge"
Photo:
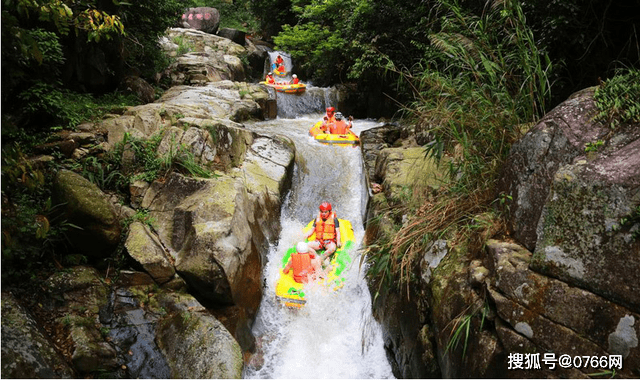
[[[640,310],[640,131],[615,152],[558,169],[532,268]]]

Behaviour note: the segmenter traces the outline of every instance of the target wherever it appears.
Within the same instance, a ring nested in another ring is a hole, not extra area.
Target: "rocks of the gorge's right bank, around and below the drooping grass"
[[[490,239],[479,252],[433,241],[417,269],[419,285],[377,299],[398,376],[640,375],[640,129],[593,121],[593,94],[574,94],[512,146],[499,185],[510,200],[506,239]],[[395,147],[401,135],[393,127],[363,133],[369,176],[383,189],[370,220],[402,202],[415,181],[439,186],[437,166],[421,148]],[[603,149],[585,149],[598,140]],[[474,218],[495,233],[491,216]],[[368,227],[373,236],[380,228]],[[452,345],[461,325],[464,342]],[[517,354],[537,354],[539,365],[514,366]],[[562,355],[584,361],[555,365]],[[619,355],[619,368],[586,363],[610,355]]]

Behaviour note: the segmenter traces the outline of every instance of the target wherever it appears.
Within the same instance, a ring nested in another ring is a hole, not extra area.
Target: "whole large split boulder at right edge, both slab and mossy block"
[[[593,95],[574,94],[514,144],[500,189],[533,269],[638,309],[640,129],[594,121]]]

